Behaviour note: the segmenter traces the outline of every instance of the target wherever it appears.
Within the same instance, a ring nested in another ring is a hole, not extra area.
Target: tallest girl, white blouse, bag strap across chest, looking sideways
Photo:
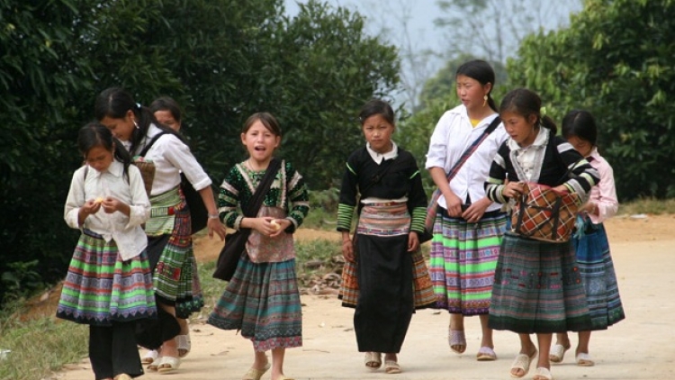
[[[500,204],[485,196],[483,183],[492,158],[508,137],[503,124],[466,158],[449,183],[447,173],[498,118],[497,105],[491,98],[494,81],[494,71],[485,61],[472,60],[457,68],[457,97],[462,104],[438,121],[426,165],[443,195],[438,199],[431,242],[431,281],[439,306],[450,312],[448,343],[455,353],[462,354],[466,349],[464,316],[479,316],[482,339],[478,360],[497,358],[488,310],[507,218]]]

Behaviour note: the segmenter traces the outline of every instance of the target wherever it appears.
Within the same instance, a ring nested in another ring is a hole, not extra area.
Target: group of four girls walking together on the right
[[[617,212],[617,195],[611,167],[597,149],[595,122],[588,112],[572,111],[563,119],[563,137],[556,136],[541,99],[525,88],[509,92],[498,109],[491,97],[495,74],[482,60],[461,65],[455,83],[462,104],[437,122],[427,154],[440,193],[432,231],[425,228],[419,169],[392,140],[391,107],[372,101],[359,118],[366,145],[347,159],[338,231],[347,260],[340,296],[355,307],[365,366],[379,368],[384,354],[385,373],[401,372],[397,354],[421,307],[450,313],[448,344],[458,354],[467,348],[464,316],[478,315],[479,361],[497,359],[492,330],[517,332],[512,377],[527,375],[537,358],[534,379],[552,379],[551,362],[563,361],[571,348],[567,331],[579,331],[577,364],[592,366],[590,331],[625,318],[602,226]],[[572,240],[553,243],[508,231],[509,202],[526,182],[587,200]],[[427,274],[415,256],[429,233]],[[421,280],[425,276],[430,281]],[[434,303],[425,299],[429,288]]]

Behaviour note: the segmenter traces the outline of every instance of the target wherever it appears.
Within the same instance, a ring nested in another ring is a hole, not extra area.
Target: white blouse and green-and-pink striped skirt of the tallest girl
[[[494,113],[474,127],[464,105],[445,113],[431,136],[426,167],[442,167],[450,172],[496,117]],[[492,158],[507,137],[500,124],[466,158],[448,184],[463,200],[463,207],[485,198],[484,180]],[[500,208],[500,204],[491,204],[479,222],[466,222],[462,217],[449,216],[445,197],[439,198],[429,273],[440,308],[465,316],[488,313],[494,270],[506,229],[506,213]]]

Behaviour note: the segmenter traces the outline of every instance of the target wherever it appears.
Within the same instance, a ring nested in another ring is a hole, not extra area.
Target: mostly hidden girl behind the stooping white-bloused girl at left
[[[164,124],[176,132],[181,129],[181,108],[174,99],[168,96],[162,96],[155,99],[150,104],[150,112],[153,113],[157,122]],[[193,231],[196,232],[196,231]],[[199,281],[197,272],[197,260],[192,257],[191,265],[193,271],[193,300],[198,300],[195,303],[203,304],[202,286]],[[179,315],[176,313],[176,321],[181,327],[181,332],[175,337],[176,347],[178,348],[178,357],[186,357],[190,353],[190,329],[187,326],[187,315]],[[152,363],[158,356],[157,350],[150,350],[141,360],[144,364]]]

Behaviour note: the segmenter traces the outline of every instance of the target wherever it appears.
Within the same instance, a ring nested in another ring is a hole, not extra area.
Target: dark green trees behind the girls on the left
[[[269,111],[284,130],[279,155],[311,188],[334,185],[361,142],[354,115],[399,86],[397,52],[365,35],[359,14],[311,1],[288,19],[282,4],[0,0],[0,274],[23,276],[8,264],[38,259],[46,281],[64,275],[78,232],[62,222],[82,161],[76,131],[109,86],[141,104],[178,100],[216,183],[244,158],[243,122]]]

